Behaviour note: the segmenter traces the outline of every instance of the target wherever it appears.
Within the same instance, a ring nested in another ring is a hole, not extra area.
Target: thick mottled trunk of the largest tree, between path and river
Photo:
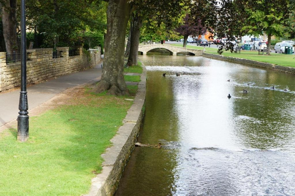
[[[124,81],[124,47],[129,18],[129,0],[109,0],[107,8],[107,30],[101,81],[94,92],[108,90],[108,94],[125,95],[128,89]]]

